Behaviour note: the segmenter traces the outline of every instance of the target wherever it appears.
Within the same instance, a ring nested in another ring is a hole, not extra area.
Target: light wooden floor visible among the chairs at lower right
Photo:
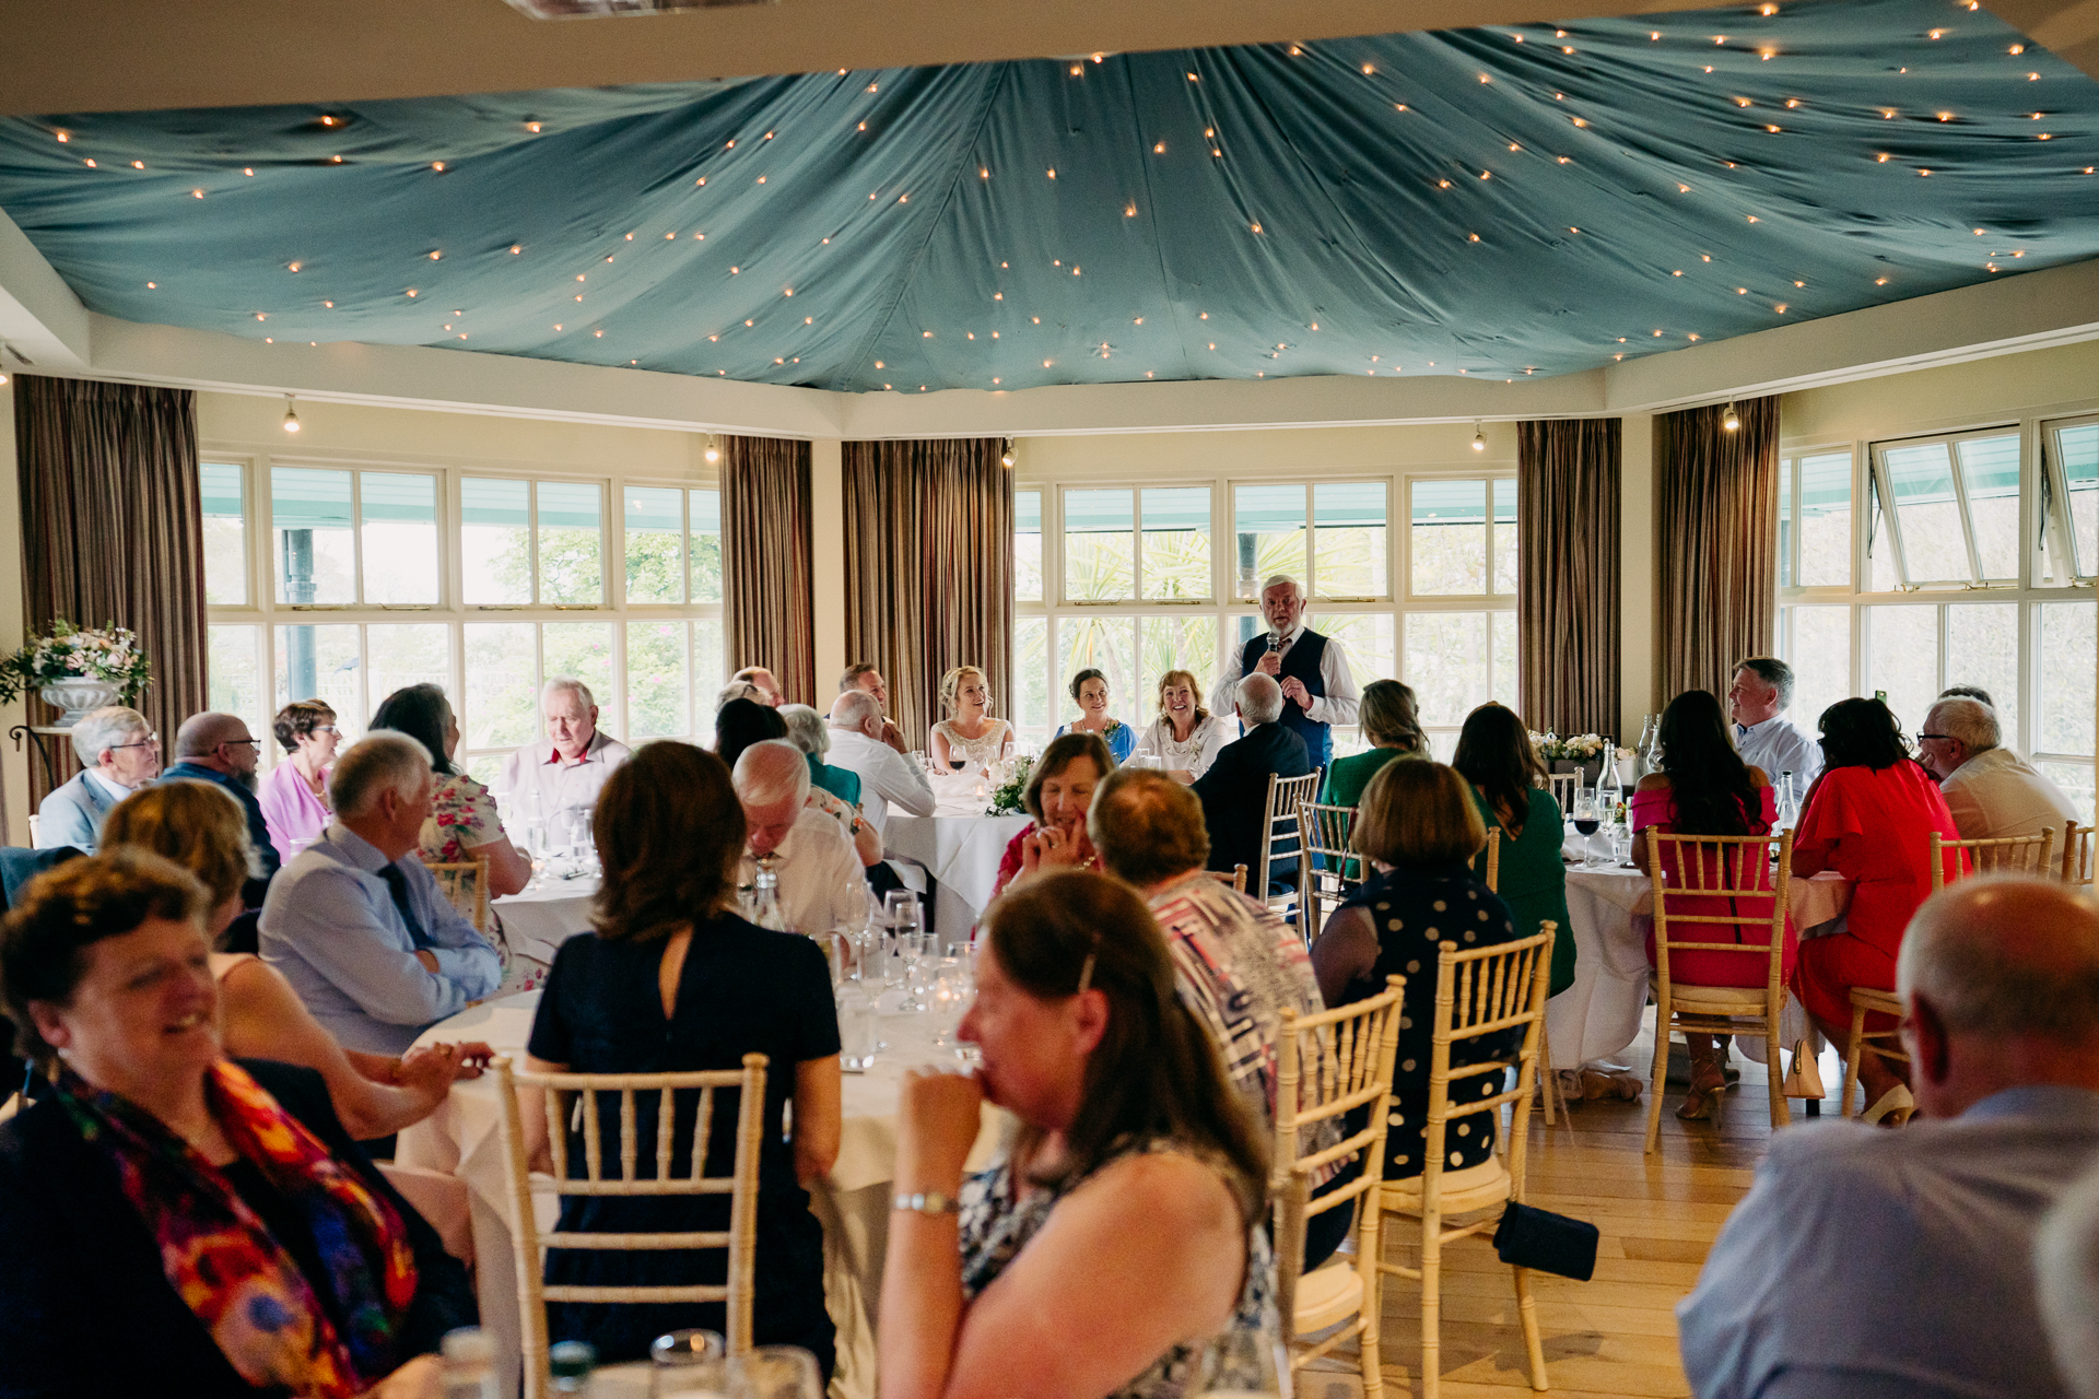
[[[1648,1011],[1652,1017],[1652,1009]],[[1618,1061],[1648,1076],[1652,1034]],[[1530,1202],[1587,1219],[1602,1231],[1595,1277],[1572,1282],[1532,1275],[1545,1370],[1553,1395],[1690,1395],[1677,1361],[1675,1305],[1698,1282],[1727,1212],[1748,1191],[1772,1135],[1763,1066],[1734,1053],[1742,1082],[1721,1095],[1711,1122],[1677,1122],[1683,1089],[1662,1099],[1662,1141],[1641,1154],[1648,1101],[1578,1103],[1545,1126],[1532,1114]],[[1837,1116],[1835,1051],[1822,1055]],[[1793,1103],[1795,1122],[1801,1103]],[[1387,1242],[1387,1258],[1413,1263],[1411,1250]],[[1385,1279],[1381,1328],[1385,1395],[1417,1395],[1421,1374],[1421,1292],[1400,1277]],[[1299,1376],[1301,1399],[1354,1399],[1362,1393],[1354,1351]],[[1515,1321],[1509,1267],[1482,1240],[1444,1250],[1442,1393],[1448,1399],[1528,1395],[1524,1332]]]

